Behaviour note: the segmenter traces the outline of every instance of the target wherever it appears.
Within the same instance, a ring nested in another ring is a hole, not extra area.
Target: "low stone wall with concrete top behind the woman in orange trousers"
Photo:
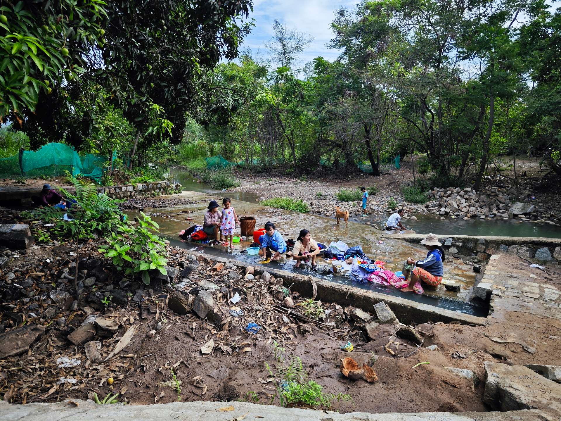
[[[425,238],[419,234],[404,234],[396,239],[419,244]],[[516,252],[525,259],[536,259],[541,262],[555,260],[561,263],[561,239],[542,237],[497,237],[483,236],[473,237],[469,235],[439,235],[438,240],[442,243],[444,250],[451,254],[465,256],[477,256],[481,260],[498,251]]]

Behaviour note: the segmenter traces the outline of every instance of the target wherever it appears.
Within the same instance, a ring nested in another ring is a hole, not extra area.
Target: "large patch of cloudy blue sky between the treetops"
[[[327,47],[333,38],[330,24],[339,7],[353,8],[358,0],[255,0],[254,12],[250,17],[255,19],[255,28],[243,42],[243,46],[253,52],[268,57],[265,43],[273,36],[273,22],[277,19],[288,28],[305,31],[314,37],[305,52],[300,54],[303,66],[318,56],[334,60],[339,52]]]

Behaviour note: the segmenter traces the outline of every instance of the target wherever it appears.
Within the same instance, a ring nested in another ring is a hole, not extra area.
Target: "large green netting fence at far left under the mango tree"
[[[21,151],[19,155],[0,159],[0,178],[57,177],[70,172],[99,182],[107,157],[93,154],[80,156],[76,150],[63,143],[49,143],[35,152]]]

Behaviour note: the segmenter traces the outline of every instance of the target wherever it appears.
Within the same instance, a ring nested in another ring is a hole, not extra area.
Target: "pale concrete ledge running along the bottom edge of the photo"
[[[219,408],[232,405],[234,410],[219,412]],[[171,420],[208,421],[233,420],[245,415],[244,419],[264,419],[266,421],[543,421],[546,415],[536,409],[507,412],[422,412],[417,414],[369,414],[320,411],[299,408],[281,408],[273,405],[257,405],[247,402],[173,402],[155,405],[97,405],[93,401],[67,399],[54,404],[10,405],[0,401],[3,421],[135,421]]]

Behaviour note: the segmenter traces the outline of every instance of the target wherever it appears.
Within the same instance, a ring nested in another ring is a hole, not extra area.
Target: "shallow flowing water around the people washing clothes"
[[[206,186],[200,185],[200,183],[196,183],[196,185],[199,189],[206,189]],[[228,193],[228,196],[234,198],[234,195],[231,193]],[[212,255],[231,257],[243,262],[257,263],[259,256],[250,256],[247,253],[242,253],[242,250],[250,246],[252,239],[234,244],[233,249],[227,249],[223,246],[210,247],[199,243],[183,242],[179,239],[178,234],[181,230],[185,230],[193,223],[201,223],[203,221],[206,205],[210,199],[217,199],[216,193],[208,195],[193,191],[185,191],[180,195],[174,195],[173,198],[183,198],[186,204],[171,208],[145,209],[145,212],[151,214],[153,219],[158,222],[160,225],[160,232],[170,240],[172,245],[178,245],[186,249],[196,249],[197,251],[204,251]],[[266,221],[273,221],[284,239],[295,239],[298,236],[298,232],[302,228],[306,228],[311,232],[312,237],[316,241],[329,244],[330,241],[342,240],[349,246],[360,245],[367,256],[373,259],[383,260],[387,263],[386,267],[394,272],[401,271],[403,261],[407,257],[423,258],[426,255],[426,250],[417,248],[406,242],[385,237],[383,232],[366,226],[364,223],[350,221],[348,227],[344,224],[337,226],[333,218],[290,211],[282,211],[282,214],[280,214],[270,211],[269,208],[263,207],[255,201],[245,202],[235,198],[232,201],[232,206],[236,209],[238,215],[245,214],[254,216],[257,219],[256,227],[262,227]],[[130,216],[132,217],[133,214],[131,213]],[[318,263],[330,264],[330,262],[324,262],[322,259],[318,259]],[[473,283],[475,283],[475,274],[471,266],[463,264],[458,259],[454,259],[454,262],[447,262],[445,264],[444,278],[461,284],[462,290],[456,293],[446,290],[444,286],[441,285],[436,291],[425,291],[424,295],[417,295],[412,292],[403,293],[392,287],[384,287],[372,283],[361,284],[341,275],[328,276],[316,272],[308,272],[307,269],[304,268],[295,268],[294,260],[282,258],[280,262],[272,262],[269,264],[274,268],[303,274],[313,274],[315,277],[329,281],[352,285],[361,289],[373,290],[383,294],[401,296],[402,298],[462,313],[484,317],[488,312],[486,308],[473,306],[467,302]]]

